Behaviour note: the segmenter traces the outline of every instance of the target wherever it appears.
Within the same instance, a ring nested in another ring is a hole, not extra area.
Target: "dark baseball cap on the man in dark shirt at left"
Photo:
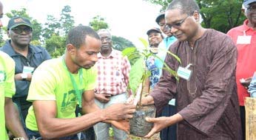
[[[18,27],[20,25],[25,25],[27,27],[32,28],[32,24],[30,23],[30,20],[27,18],[21,17],[21,16],[16,16],[10,19],[8,22],[7,29],[13,29],[14,27]]]

